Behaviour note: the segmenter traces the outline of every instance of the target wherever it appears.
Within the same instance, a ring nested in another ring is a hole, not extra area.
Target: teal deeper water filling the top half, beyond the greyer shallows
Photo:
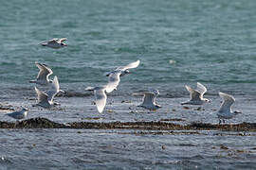
[[[136,76],[123,82],[255,83],[254,8],[252,0],[3,1],[1,83],[27,84],[34,61],[62,83],[104,83],[104,72],[136,59]],[[38,45],[55,37],[68,47]]]

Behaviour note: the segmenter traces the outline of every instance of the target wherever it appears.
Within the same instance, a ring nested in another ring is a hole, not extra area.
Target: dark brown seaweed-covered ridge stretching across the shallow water
[[[144,129],[144,130],[224,130],[224,131],[256,131],[256,123],[235,125],[218,125],[194,122],[189,125],[178,125],[165,121],[156,122],[72,122],[60,124],[46,118],[32,118],[20,122],[0,122],[0,128],[95,128],[95,129]]]

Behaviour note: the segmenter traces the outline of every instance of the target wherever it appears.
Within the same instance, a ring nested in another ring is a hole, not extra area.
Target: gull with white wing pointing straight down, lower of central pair
[[[105,93],[106,86],[101,87],[87,87],[85,91],[94,91],[95,103],[97,110],[101,113],[106,105],[107,95]]]

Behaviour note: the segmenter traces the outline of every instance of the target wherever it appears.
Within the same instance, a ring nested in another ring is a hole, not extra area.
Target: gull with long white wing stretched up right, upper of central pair
[[[139,63],[140,60],[137,60],[135,62],[129,63],[128,65],[118,67],[116,70],[106,74],[106,76],[108,76],[106,92],[111,93],[112,91],[117,90],[117,87],[119,86],[120,76],[130,74],[130,71],[128,69],[137,68]]]

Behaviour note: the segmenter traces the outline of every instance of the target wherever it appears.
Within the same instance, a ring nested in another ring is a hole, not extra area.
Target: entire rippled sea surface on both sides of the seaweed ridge
[[[0,102],[29,109],[28,117],[56,122],[158,121],[180,118],[218,123],[219,91],[233,94],[229,123],[255,122],[256,2],[253,0],[60,0],[2,1],[0,6]],[[67,38],[59,50],[40,46]],[[137,59],[121,77],[99,114],[86,86],[103,85],[105,72]],[[70,95],[51,110],[32,107],[34,62],[49,65]],[[179,104],[189,98],[185,84],[202,82],[211,103],[198,109]],[[157,88],[163,108],[137,108],[148,88]],[[1,110],[0,119],[13,121]],[[80,131],[81,133],[77,133]],[[136,135],[123,130],[2,129],[2,169],[255,169],[255,134]],[[221,149],[226,144],[229,149]],[[241,151],[243,150],[243,152]]]

